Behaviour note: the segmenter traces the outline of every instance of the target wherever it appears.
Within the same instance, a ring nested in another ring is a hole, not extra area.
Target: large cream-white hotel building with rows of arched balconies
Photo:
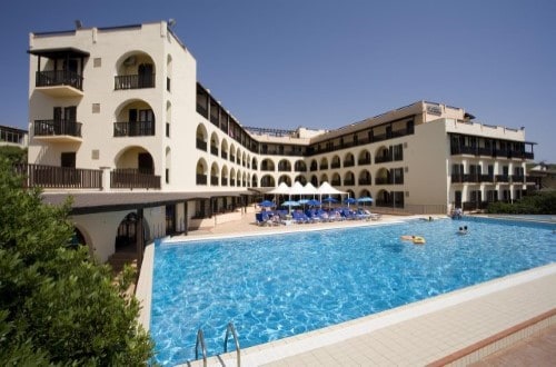
[[[237,219],[281,181],[328,181],[371,196],[376,211],[418,214],[527,189],[525,130],[461,108],[419,101],[331,131],[247,128],[197,81],[165,21],[29,42],[28,185],[47,202],[73,197],[71,220],[101,260],[122,239],[141,251],[145,240]]]

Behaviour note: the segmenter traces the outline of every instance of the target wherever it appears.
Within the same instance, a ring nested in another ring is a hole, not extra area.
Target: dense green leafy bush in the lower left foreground
[[[147,364],[137,299],[85,247],[67,246],[70,204],[43,205],[10,167],[0,159],[0,364]]]

